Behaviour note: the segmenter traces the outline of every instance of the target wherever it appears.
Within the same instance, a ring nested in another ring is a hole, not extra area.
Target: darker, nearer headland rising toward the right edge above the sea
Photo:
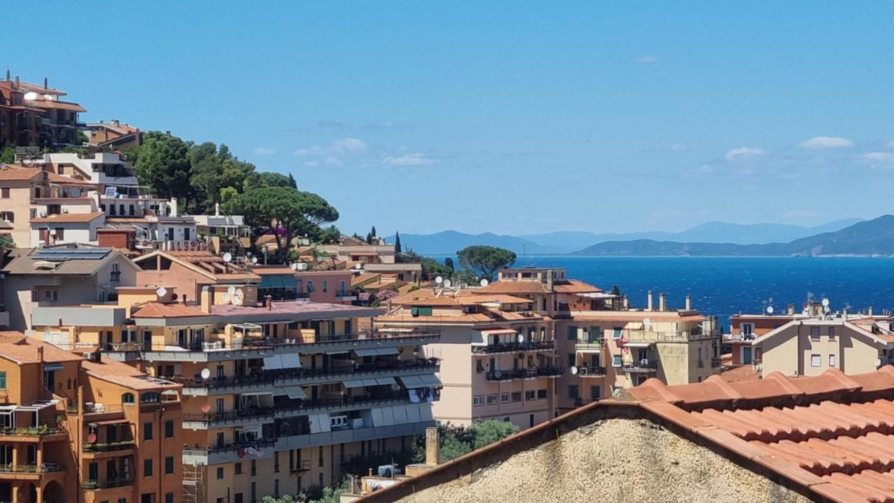
[[[789,243],[684,243],[637,239],[596,243],[574,254],[751,257],[894,255],[894,215],[883,215],[834,232],[814,234]]]

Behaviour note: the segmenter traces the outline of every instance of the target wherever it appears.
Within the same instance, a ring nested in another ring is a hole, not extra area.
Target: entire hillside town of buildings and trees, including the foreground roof
[[[0,501],[894,500],[887,309],[721,320],[500,249],[422,257],[86,111],[0,81]],[[499,443],[443,456],[483,423]]]

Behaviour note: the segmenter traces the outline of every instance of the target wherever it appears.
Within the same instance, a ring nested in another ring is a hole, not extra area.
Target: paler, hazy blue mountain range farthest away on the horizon
[[[473,244],[499,246],[519,254],[542,255],[583,252],[595,243],[605,242],[679,242],[679,243],[730,243],[766,244],[789,243],[799,238],[838,231],[860,222],[858,218],[836,220],[822,226],[803,227],[785,224],[731,224],[708,222],[678,233],[591,233],[584,231],[559,231],[546,234],[465,234],[443,231],[435,234],[401,234],[401,245],[423,255],[451,254]],[[394,236],[388,236],[393,243]]]

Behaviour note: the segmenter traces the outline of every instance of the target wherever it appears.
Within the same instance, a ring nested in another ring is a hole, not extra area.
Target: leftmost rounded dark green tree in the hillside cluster
[[[133,165],[139,182],[156,196],[182,198],[189,207],[195,191],[190,184],[190,143],[169,132],[147,132]]]

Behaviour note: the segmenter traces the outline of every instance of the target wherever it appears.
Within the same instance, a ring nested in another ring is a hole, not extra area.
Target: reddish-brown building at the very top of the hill
[[[0,81],[0,145],[63,147],[78,145],[78,114],[84,107],[63,101],[66,93],[48,85],[15,79]]]

